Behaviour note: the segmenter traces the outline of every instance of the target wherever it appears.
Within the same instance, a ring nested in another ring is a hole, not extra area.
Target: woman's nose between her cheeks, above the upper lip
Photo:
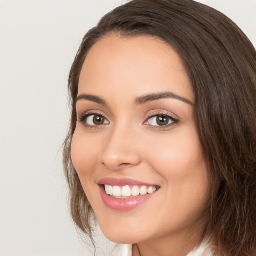
[[[106,139],[101,153],[101,163],[108,169],[119,170],[136,166],[141,158],[135,132],[124,128],[115,128]]]

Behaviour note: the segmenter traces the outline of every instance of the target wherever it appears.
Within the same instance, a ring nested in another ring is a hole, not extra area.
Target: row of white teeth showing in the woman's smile
[[[146,186],[146,185],[124,185],[112,186],[104,184],[106,194],[115,198],[131,198],[138,195],[151,194],[158,190],[159,186]]]

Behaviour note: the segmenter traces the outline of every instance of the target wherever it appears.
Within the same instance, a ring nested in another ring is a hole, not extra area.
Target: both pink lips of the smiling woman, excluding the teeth
[[[151,184],[147,184],[141,181],[133,180],[133,179],[118,179],[118,178],[103,178],[98,182],[100,194],[104,204],[114,210],[131,210],[149,200],[158,190],[151,194],[146,195],[137,195],[130,198],[115,198],[108,195],[105,192],[103,184],[108,185],[146,185],[150,186]]]

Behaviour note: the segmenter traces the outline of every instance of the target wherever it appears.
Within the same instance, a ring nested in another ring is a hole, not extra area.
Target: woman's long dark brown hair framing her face
[[[75,99],[87,52],[103,36],[157,36],[179,53],[195,95],[194,115],[211,180],[203,236],[225,256],[256,248],[256,52],[225,15],[192,0],[132,0],[84,36],[69,74],[72,107],[63,161],[71,214],[92,237],[93,210],[70,158]]]

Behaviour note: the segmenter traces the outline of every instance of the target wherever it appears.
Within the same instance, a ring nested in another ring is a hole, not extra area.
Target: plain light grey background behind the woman
[[[79,42],[122,2],[0,0],[0,256],[92,255],[69,216],[58,150]],[[200,2],[233,19],[255,45],[256,0]]]

